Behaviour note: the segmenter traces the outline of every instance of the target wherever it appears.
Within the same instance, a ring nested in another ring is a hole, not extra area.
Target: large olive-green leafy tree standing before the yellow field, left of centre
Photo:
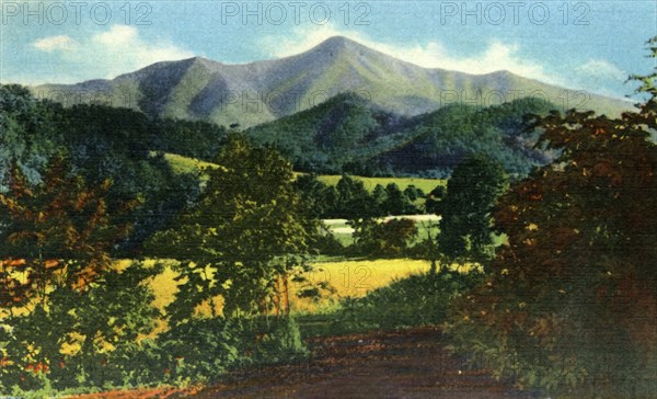
[[[182,261],[180,294],[168,308],[176,321],[221,295],[226,317],[289,312],[288,276],[303,271],[310,232],[292,186],[291,164],[278,152],[251,147],[231,134],[208,169],[200,201],[175,229],[158,233],[151,248]]]

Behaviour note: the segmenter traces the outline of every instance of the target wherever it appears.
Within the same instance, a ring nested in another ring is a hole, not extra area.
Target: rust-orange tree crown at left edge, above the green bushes
[[[15,163],[10,170],[10,192],[0,194],[0,306],[45,304],[55,283],[84,289],[108,267],[108,251],[129,231],[110,224],[104,196],[111,181],[89,189],[62,158],[53,159],[36,186]]]

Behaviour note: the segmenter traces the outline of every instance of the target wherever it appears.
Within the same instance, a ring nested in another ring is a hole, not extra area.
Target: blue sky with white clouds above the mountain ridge
[[[629,75],[655,68],[657,1],[0,0],[0,82],[112,79],[194,56],[244,64],[335,35],[422,67],[622,98]]]

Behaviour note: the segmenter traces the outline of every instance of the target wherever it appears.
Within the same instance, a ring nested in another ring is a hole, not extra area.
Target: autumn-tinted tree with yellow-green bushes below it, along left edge
[[[5,388],[102,386],[80,363],[152,330],[152,293],[140,284],[157,270],[113,269],[108,251],[128,229],[110,223],[108,182],[89,189],[61,158],[42,174],[30,185],[13,166],[0,194],[0,374]]]

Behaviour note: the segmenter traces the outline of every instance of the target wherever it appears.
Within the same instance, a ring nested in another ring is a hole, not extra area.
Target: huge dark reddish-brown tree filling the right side
[[[657,69],[635,78],[648,99],[620,118],[534,116],[539,145],[560,156],[500,198],[508,244],[453,315],[454,339],[525,386],[654,395]]]

